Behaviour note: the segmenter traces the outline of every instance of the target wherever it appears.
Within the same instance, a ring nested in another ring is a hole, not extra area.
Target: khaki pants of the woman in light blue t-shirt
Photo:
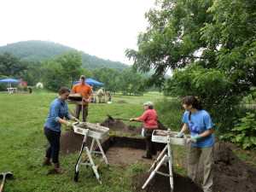
[[[213,147],[210,148],[193,148],[189,147],[188,157],[188,176],[195,182],[197,166],[200,160],[203,160],[204,166],[204,178],[202,183],[202,189],[204,192],[212,192],[212,164],[213,164]]]

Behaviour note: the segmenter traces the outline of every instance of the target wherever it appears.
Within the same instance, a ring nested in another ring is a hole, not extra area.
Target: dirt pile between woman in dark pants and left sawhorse
[[[73,130],[66,131],[61,135],[61,153],[70,154],[80,150],[84,136],[74,133]],[[91,143],[91,138],[87,137],[86,143]]]

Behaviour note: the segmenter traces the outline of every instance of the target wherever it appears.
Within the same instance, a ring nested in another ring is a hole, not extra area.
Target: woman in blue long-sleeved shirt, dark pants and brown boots
[[[67,103],[65,101],[69,93],[70,90],[68,88],[61,87],[59,96],[50,103],[49,114],[44,124],[44,135],[49,142],[49,148],[46,150],[43,166],[50,166],[50,159],[52,159],[55,166],[51,171],[52,173],[61,173],[59,163],[61,124],[72,127],[72,124],[67,121],[68,119],[79,121],[79,119],[68,113]]]

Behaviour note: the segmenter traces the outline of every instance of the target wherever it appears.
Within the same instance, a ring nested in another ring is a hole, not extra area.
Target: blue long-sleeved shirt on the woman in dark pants
[[[45,120],[44,127],[52,130],[61,132],[61,123],[59,119],[71,119],[71,115],[68,113],[67,103],[60,98],[56,98],[50,103],[49,114]]]

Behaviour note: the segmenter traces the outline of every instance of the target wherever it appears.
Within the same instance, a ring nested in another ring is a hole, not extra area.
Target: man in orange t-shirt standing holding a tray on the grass
[[[79,119],[80,111],[82,110],[83,115],[83,121],[86,121],[86,118],[88,116],[88,105],[90,102],[90,97],[92,93],[92,89],[89,84],[85,83],[85,77],[84,75],[81,75],[80,77],[80,83],[73,85],[73,93],[80,93],[83,96],[82,99],[82,105],[76,106],[76,118]]]

